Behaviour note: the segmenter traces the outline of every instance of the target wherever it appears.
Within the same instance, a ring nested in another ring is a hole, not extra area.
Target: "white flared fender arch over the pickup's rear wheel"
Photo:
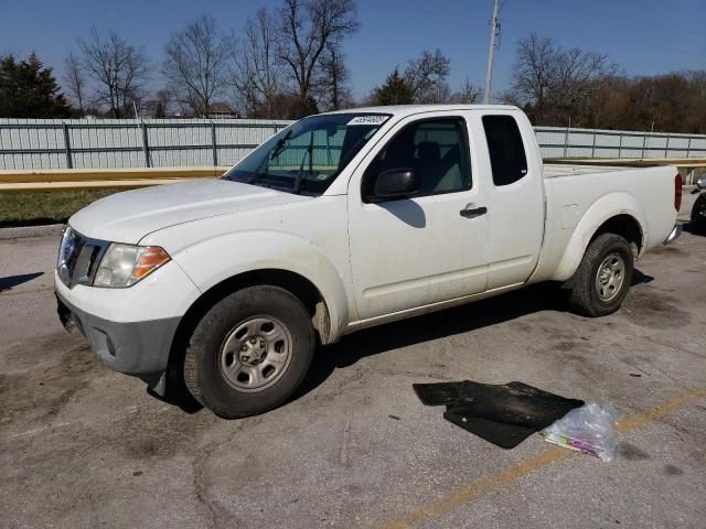
[[[569,238],[566,250],[559,260],[559,264],[556,268],[552,279],[557,281],[566,281],[574,272],[576,272],[586,248],[591,238],[600,228],[600,226],[612,217],[618,215],[630,215],[640,225],[642,231],[642,245],[644,248],[644,241],[646,240],[646,223],[644,212],[642,207],[633,197],[628,193],[610,193],[600,197],[586,210],[581,219],[579,220],[576,229]]]

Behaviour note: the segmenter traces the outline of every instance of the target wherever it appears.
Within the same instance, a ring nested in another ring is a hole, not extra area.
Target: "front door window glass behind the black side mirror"
[[[471,188],[466,121],[439,118],[405,127],[375,156],[365,171],[363,196],[372,198],[377,176],[389,170],[410,169],[419,179],[416,196]]]

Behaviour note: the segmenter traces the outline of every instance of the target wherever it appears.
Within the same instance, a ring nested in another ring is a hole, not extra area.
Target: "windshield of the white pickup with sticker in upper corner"
[[[386,114],[312,116],[263,143],[224,179],[319,196],[389,119]]]

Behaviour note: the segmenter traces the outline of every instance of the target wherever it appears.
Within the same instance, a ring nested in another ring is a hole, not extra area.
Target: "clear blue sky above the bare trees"
[[[502,1],[502,0],[501,0]],[[359,0],[361,31],[345,46],[356,97],[422,50],[451,58],[452,88],[482,86],[492,0]],[[92,25],[145,45],[158,71],[171,31],[201,13],[239,30],[260,6],[278,0],[0,0],[0,54],[34,51],[61,74],[63,58]],[[505,0],[494,68],[507,87],[518,39],[531,32],[564,46],[607,53],[629,75],[706,69],[706,0]],[[158,79],[154,79],[158,83]]]

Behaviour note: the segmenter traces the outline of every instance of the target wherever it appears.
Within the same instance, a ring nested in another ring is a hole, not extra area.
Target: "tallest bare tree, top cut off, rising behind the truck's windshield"
[[[285,0],[280,15],[281,58],[295,80],[300,114],[308,114],[321,55],[359,30],[357,8],[354,0]]]

